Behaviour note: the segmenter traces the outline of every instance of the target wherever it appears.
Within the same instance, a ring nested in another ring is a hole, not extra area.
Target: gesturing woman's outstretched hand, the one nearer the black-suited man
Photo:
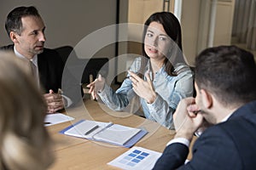
[[[105,78],[103,78],[102,75],[99,75],[94,82],[90,82],[90,84],[86,86],[87,88],[90,88],[89,93],[91,94],[92,99],[97,99],[97,93],[102,92],[105,82]]]

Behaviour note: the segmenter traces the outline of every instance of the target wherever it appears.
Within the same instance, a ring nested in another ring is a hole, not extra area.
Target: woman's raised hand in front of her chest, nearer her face
[[[144,81],[141,77],[138,77],[134,72],[128,71],[131,75],[134,92],[143,99],[146,99],[148,104],[152,104],[156,99],[156,93],[154,91],[154,85],[149,77],[149,72],[146,72],[147,81]]]

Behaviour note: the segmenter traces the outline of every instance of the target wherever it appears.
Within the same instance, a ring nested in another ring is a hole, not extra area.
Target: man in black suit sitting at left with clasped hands
[[[74,105],[82,99],[79,81],[68,71],[65,71],[65,82],[61,84],[64,63],[55,50],[44,48],[45,26],[37,8],[14,8],[7,16],[5,28],[14,44],[1,49],[12,50],[18,57],[31,61],[36,82],[45,91],[44,99],[49,113]]]

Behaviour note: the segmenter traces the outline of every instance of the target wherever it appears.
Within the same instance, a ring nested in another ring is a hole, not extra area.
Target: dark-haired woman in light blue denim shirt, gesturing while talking
[[[143,31],[143,56],[134,60],[128,77],[114,92],[101,76],[88,85],[93,99],[99,96],[114,111],[125,110],[137,95],[144,116],[173,128],[178,102],[193,95],[193,73],[182,54],[181,27],[168,12],[152,14]]]

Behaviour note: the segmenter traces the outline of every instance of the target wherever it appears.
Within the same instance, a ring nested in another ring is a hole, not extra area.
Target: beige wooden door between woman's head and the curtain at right
[[[176,0],[181,1],[181,0]],[[202,49],[230,45],[235,0],[182,0],[183,53],[194,65]]]

